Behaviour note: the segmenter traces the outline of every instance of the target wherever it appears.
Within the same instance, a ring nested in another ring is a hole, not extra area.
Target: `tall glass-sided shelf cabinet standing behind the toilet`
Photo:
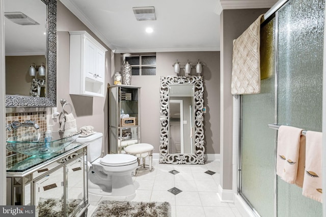
[[[140,143],[141,88],[119,84],[109,88],[109,151],[123,153],[124,147]]]

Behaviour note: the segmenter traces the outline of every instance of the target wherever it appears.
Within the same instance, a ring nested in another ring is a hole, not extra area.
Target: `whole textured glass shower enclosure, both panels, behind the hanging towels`
[[[268,124],[321,132],[324,4],[290,0],[261,26],[261,92],[241,96],[238,186],[258,216],[322,216],[321,203],[276,175]]]

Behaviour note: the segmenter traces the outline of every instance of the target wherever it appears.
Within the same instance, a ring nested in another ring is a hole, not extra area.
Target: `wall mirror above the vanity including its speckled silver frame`
[[[57,1],[4,0],[6,107],[55,107]]]

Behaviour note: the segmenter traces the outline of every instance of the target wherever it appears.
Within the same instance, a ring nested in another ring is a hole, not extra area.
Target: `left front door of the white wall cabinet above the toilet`
[[[96,53],[97,47],[86,38],[85,43],[85,77],[95,80],[96,79]]]

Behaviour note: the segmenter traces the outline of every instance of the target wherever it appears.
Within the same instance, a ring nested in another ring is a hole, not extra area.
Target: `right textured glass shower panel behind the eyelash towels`
[[[292,0],[277,15],[278,123],[321,132],[324,1]],[[279,176],[277,207],[280,217],[322,216],[321,203]]]

